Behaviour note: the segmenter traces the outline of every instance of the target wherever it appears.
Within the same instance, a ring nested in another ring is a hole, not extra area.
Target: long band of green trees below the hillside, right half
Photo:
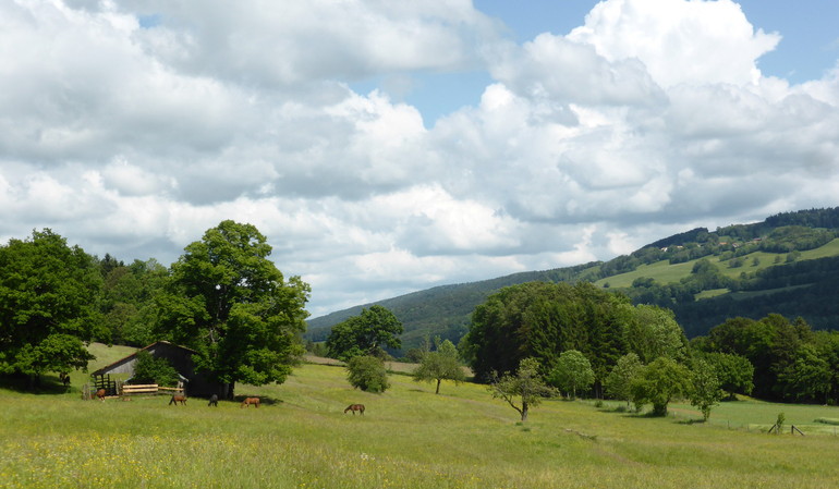
[[[650,404],[657,414],[677,395],[706,416],[735,394],[839,401],[837,331],[815,332],[802,319],[769,315],[730,319],[689,342],[669,309],[632,305],[591,283],[499,291],[475,309],[460,350],[476,379],[501,386],[502,398],[524,382],[524,383],[535,377],[566,395]]]

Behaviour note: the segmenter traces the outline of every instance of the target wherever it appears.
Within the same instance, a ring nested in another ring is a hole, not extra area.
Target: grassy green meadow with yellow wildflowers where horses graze
[[[111,351],[113,353],[114,351]],[[127,350],[126,352],[131,352]],[[123,352],[115,356],[119,358]],[[113,358],[115,359],[115,358]],[[101,364],[108,363],[105,359]],[[84,380],[84,379],[82,379]],[[712,423],[548,401],[526,424],[482,386],[391,376],[368,394],[344,369],[304,365],[264,405],[193,399],[82,401],[0,390],[2,488],[827,488],[839,481],[839,408],[726,403]],[[364,416],[343,414],[364,403]],[[779,412],[806,437],[765,430]]]

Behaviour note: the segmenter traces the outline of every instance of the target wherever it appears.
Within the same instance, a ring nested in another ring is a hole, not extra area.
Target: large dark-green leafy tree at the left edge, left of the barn
[[[50,230],[0,247],[0,372],[29,377],[85,369],[86,343],[107,337],[94,259]]]

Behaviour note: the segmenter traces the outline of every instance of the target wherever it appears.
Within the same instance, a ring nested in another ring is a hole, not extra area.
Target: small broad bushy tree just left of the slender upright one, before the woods
[[[652,404],[655,416],[665,416],[667,405],[676,395],[690,392],[690,378],[683,365],[667,357],[656,358],[633,380],[632,402],[639,408]]]

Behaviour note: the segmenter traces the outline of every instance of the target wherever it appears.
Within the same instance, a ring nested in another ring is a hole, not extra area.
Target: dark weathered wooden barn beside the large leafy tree
[[[184,380],[184,393],[193,398],[209,398],[212,394],[226,396],[227,384],[210,380],[205,372],[196,372],[192,362],[192,356],[198,352],[169,343],[168,341],[158,341],[150,345],[137,350],[145,350],[155,358],[166,358],[174,367],[175,371]],[[119,359],[108,366],[105,366],[95,372],[94,376],[104,376],[108,374],[130,374],[134,375],[134,364],[137,362],[137,352],[132,353],[125,358]]]

